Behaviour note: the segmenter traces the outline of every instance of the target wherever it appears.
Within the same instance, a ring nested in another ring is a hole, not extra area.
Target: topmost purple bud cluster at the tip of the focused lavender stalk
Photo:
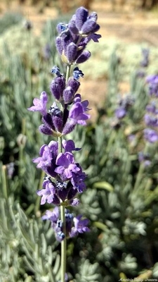
[[[96,32],[100,29],[95,12],[88,14],[84,7],[77,9],[70,22],[57,26],[59,36],[56,38],[56,48],[62,56],[62,61],[68,64],[84,63],[91,53],[86,50],[86,45],[93,39],[98,42],[101,37]]]

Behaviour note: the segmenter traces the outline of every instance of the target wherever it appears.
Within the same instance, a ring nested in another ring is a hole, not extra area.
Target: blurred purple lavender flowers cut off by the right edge
[[[144,120],[147,128],[144,130],[144,137],[148,142],[154,143],[158,141],[158,75],[149,75],[146,81],[149,85],[151,102],[146,106]]]

